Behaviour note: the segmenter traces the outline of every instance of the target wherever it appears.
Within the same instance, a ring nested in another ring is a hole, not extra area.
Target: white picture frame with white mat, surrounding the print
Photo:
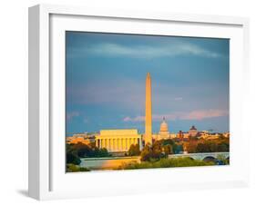
[[[141,24],[145,25],[143,29]],[[169,25],[173,29],[166,28]],[[65,136],[61,137],[65,128],[62,91],[65,90],[63,32],[66,29],[230,38],[230,165],[66,174]],[[30,7],[29,196],[37,200],[51,200],[247,186],[250,181],[249,161],[244,161],[241,155],[249,147],[249,136],[242,126],[246,122],[242,111],[249,101],[246,92],[249,77],[248,29],[249,20],[242,17],[113,11],[64,5]],[[61,103],[58,109],[56,103]],[[56,133],[60,137],[53,137]],[[242,136],[242,142],[236,137],[238,135]],[[157,176],[158,181],[154,180]],[[98,187],[97,182],[107,186]]]

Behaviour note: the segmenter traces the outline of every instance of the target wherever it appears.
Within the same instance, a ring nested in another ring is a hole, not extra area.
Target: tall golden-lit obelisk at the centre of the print
[[[146,78],[145,144],[147,143],[152,144],[152,101],[150,73],[147,73]]]

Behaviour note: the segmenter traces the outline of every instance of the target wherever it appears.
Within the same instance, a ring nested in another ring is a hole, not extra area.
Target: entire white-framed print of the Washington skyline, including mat
[[[29,195],[246,186],[248,26],[29,8]]]

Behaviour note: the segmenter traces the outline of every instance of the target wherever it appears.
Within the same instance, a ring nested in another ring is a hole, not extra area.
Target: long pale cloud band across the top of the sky
[[[73,48],[72,52],[77,55],[95,54],[106,57],[130,57],[130,58],[159,58],[173,57],[177,55],[195,55],[209,58],[217,58],[221,55],[205,49],[197,44],[173,42],[171,44],[156,45],[125,45],[102,43],[91,47]]]

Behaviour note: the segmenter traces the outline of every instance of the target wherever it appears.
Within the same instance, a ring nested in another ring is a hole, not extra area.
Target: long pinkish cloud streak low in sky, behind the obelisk
[[[214,118],[214,117],[221,117],[221,116],[227,116],[229,114],[226,110],[218,110],[218,109],[210,109],[210,110],[196,110],[191,112],[172,112],[169,114],[164,115],[153,115],[152,120],[153,121],[161,121],[163,117],[165,117],[169,121],[175,121],[175,120],[197,120],[201,121],[203,119],[207,118]],[[125,117],[123,119],[124,122],[144,122],[145,117],[144,116],[136,116],[134,118],[131,118],[129,116]]]

